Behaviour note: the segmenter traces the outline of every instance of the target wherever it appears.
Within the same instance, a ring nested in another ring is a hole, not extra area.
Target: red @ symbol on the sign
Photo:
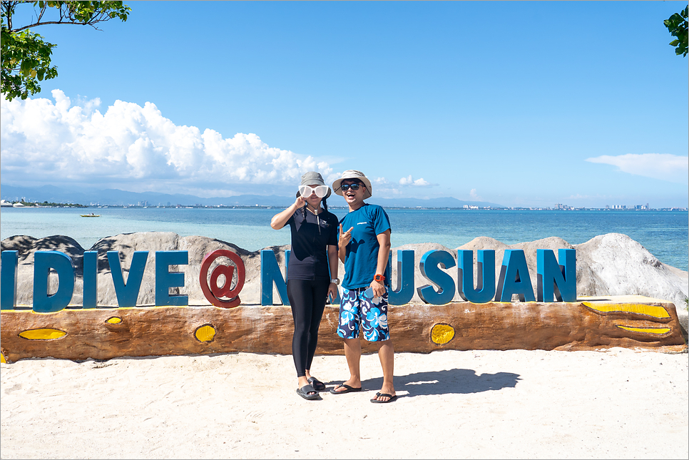
[[[237,267],[237,283],[234,289],[230,289],[232,285],[232,276],[235,267],[232,265],[218,265],[210,273],[210,287],[208,286],[208,269],[215,259],[218,257],[228,257]],[[218,277],[225,275],[225,282],[222,286],[218,286]],[[226,249],[218,249],[209,252],[203,257],[201,262],[201,272],[199,274],[199,282],[203,295],[208,299],[208,302],[220,308],[237,307],[242,302],[239,298],[239,293],[244,287],[246,278],[246,270],[242,259],[234,252]],[[229,300],[223,300],[220,297],[227,297]]]

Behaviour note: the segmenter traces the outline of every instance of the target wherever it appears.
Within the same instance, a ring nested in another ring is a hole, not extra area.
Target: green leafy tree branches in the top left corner
[[[126,21],[131,8],[121,1],[0,1],[1,7],[1,93],[8,101],[26,99],[41,91],[39,81],[55,78],[57,66],[51,66],[56,46],[31,31],[47,24],[91,26],[110,19]],[[17,8],[34,9],[31,24],[14,24]]]

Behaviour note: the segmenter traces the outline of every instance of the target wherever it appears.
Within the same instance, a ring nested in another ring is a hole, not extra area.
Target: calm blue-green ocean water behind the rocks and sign
[[[80,213],[100,218],[81,218]],[[68,235],[88,249],[101,237],[129,232],[176,232],[232,242],[246,250],[290,243],[290,230],[272,230],[274,209],[35,208],[0,210],[0,237]],[[345,210],[335,209],[339,217]],[[573,245],[617,232],[640,242],[661,262],[689,265],[689,213],[685,211],[387,210],[392,247],[437,242],[458,247],[479,236],[511,245],[558,236]]]

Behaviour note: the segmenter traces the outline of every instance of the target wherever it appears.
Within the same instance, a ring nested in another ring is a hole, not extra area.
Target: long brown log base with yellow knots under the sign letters
[[[337,305],[328,305],[317,354],[342,354]],[[582,297],[577,302],[489,302],[389,307],[397,352],[439,349],[683,352],[675,306],[643,296]],[[66,309],[0,312],[4,362],[31,357],[87,358],[292,352],[292,312],[281,305]],[[364,352],[377,347],[362,339]]]

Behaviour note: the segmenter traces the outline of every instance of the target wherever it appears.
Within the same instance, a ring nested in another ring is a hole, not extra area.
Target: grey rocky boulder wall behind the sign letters
[[[19,279],[17,280],[18,305],[31,305],[33,296],[33,262],[36,250],[58,250],[72,258],[76,274],[76,285],[72,297],[73,305],[81,305],[83,290],[83,248],[70,237],[55,235],[45,238],[14,236],[6,238],[1,243],[2,250],[17,250],[19,252]],[[496,280],[506,249],[524,250],[526,263],[529,266],[529,276],[536,290],[536,250],[551,249],[556,252],[561,248],[576,249],[577,255],[577,295],[605,296],[605,295],[645,295],[663,300],[669,300],[677,307],[680,322],[687,329],[687,305],[685,299],[689,295],[688,272],[678,270],[660,262],[648,250],[627,235],[608,233],[583,242],[580,245],[570,245],[558,237],[548,237],[543,240],[521,242],[515,245],[505,245],[490,237],[477,237],[474,240],[450,250],[442,245],[423,243],[404,245],[392,249],[392,286],[397,289],[397,250],[414,250],[414,287],[432,284],[421,274],[419,262],[421,257],[430,250],[445,250],[454,257],[456,250],[474,251],[495,250],[496,252]],[[240,293],[244,304],[260,303],[260,251],[250,252],[229,242],[215,240],[203,236],[180,237],[172,232],[138,232],[105,237],[96,242],[90,250],[98,251],[98,305],[117,305],[117,299],[110,274],[106,252],[118,250],[121,254],[123,276],[127,280],[133,252],[149,251],[146,270],[144,271],[138,305],[155,305],[155,251],[186,250],[189,253],[188,265],[170,267],[170,271],[180,271],[185,274],[185,286],[170,292],[173,295],[188,295],[190,305],[209,305],[200,289],[199,275],[203,257],[217,249],[226,249],[239,255],[246,267],[245,286]],[[289,245],[266,247],[275,252],[282,273],[285,273],[285,250]],[[217,265],[223,260],[214,262]],[[340,278],[344,274],[342,263]],[[209,273],[213,270],[213,266]],[[455,282],[457,281],[457,267],[444,270]],[[236,274],[234,275],[236,281]],[[476,273],[474,273],[474,281]],[[51,275],[51,292],[57,288],[56,275]],[[455,291],[456,292],[456,291]],[[273,287],[273,300],[280,303],[277,290]],[[455,293],[455,302],[461,297]],[[412,303],[421,303],[415,289]]]

